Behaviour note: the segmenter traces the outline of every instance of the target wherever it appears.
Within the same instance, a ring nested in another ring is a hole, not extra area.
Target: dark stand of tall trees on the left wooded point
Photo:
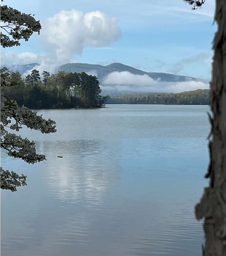
[[[7,68],[1,69],[8,72]],[[101,96],[96,76],[86,73],[59,71],[50,75],[32,70],[25,79],[19,72],[9,72],[13,86],[2,87],[4,94],[15,99],[19,105],[29,108],[89,108],[103,107],[108,96]]]

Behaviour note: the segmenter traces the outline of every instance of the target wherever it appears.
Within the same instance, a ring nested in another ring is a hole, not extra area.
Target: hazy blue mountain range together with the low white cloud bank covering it
[[[36,65],[38,64],[13,65],[8,67],[8,69],[18,70],[20,74],[24,74],[28,70],[32,70]],[[42,71],[40,70],[40,73]],[[102,94],[109,94],[111,96],[124,93],[182,92],[195,89],[208,89],[208,81],[204,79],[168,73],[145,72],[121,63],[112,63],[107,66],[87,63],[67,63],[56,68],[55,73],[58,71],[72,73],[85,72],[89,75],[95,75],[100,82]]]

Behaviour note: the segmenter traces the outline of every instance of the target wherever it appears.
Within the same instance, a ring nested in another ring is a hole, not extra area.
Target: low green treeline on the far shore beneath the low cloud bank
[[[180,93],[139,93],[111,97],[108,104],[208,105],[209,89]]]

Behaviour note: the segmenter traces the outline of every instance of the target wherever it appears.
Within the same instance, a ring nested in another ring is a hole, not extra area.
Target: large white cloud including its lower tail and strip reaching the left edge
[[[39,40],[46,54],[4,52],[1,64],[10,66],[38,62],[40,65],[35,69],[52,73],[57,66],[71,59],[76,62],[75,55],[80,55],[85,46],[107,47],[121,38],[117,19],[100,11],[85,14],[76,10],[60,11],[41,23]]]

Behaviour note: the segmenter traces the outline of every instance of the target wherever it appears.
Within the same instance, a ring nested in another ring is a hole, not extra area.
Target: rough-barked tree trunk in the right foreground
[[[213,41],[209,115],[209,186],[195,206],[197,220],[204,217],[203,256],[226,256],[226,0],[216,0],[218,31]]]

